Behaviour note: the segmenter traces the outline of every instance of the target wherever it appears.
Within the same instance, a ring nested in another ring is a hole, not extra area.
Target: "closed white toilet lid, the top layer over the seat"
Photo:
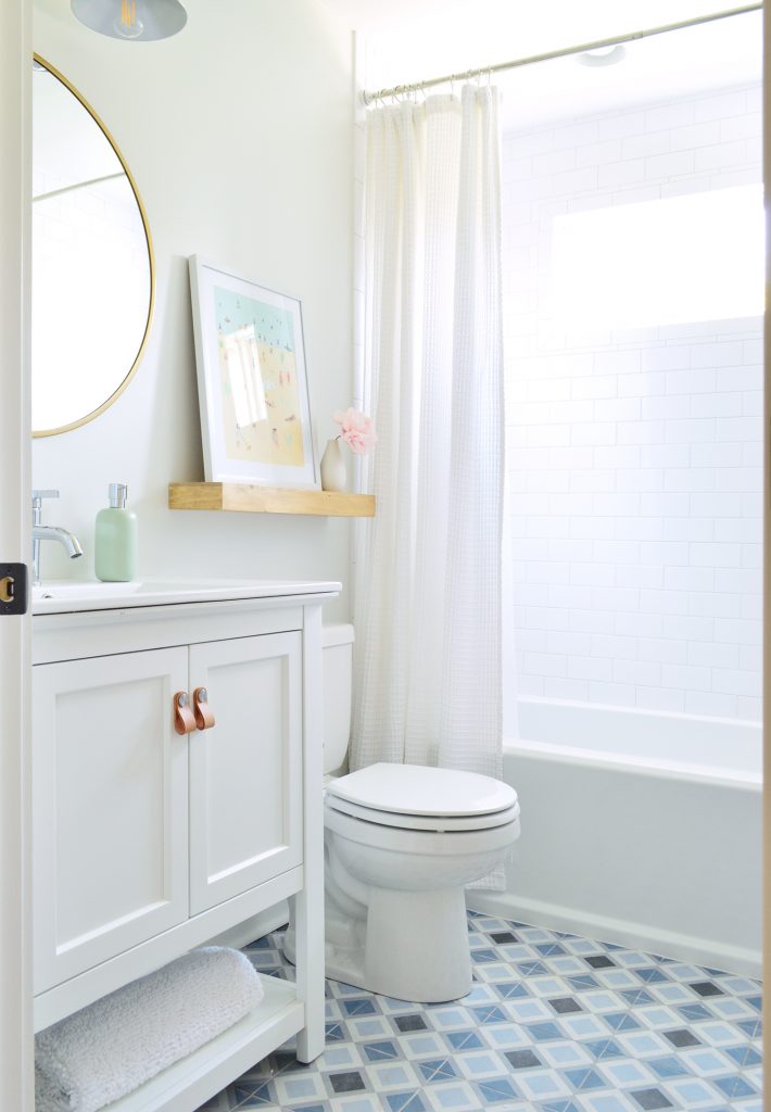
[[[474,820],[484,815],[491,818],[496,816],[495,822],[473,824],[476,828],[480,825],[500,825],[508,821],[504,813],[511,812],[515,805],[518,813],[516,792],[508,784],[493,780],[492,776],[455,768],[374,764],[332,781],[326,791],[332,806],[337,806],[338,803],[352,804],[356,807],[356,813],[362,808],[425,818]],[[372,820],[384,821],[376,815]],[[411,824],[404,822],[404,825]],[[465,823],[462,825],[465,826]],[[436,828],[433,823],[431,828]]]

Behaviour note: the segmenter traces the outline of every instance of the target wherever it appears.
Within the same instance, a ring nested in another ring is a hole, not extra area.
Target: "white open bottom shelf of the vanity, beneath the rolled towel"
[[[297,1034],[305,1009],[296,986],[274,976],[259,976],[265,996],[258,1007],[140,1089],[108,1104],[103,1112],[187,1112]]]

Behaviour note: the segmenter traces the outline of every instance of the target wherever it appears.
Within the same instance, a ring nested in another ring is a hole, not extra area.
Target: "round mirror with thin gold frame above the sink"
[[[136,183],[80,93],[36,56],[32,76],[32,428],[85,425],[126,389],[155,299]]]

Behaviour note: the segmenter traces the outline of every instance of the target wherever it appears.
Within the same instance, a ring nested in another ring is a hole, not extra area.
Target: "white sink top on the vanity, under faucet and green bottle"
[[[337,593],[339,583],[284,579],[136,579],[132,583],[67,580],[32,587],[32,614],[169,606],[228,598]]]

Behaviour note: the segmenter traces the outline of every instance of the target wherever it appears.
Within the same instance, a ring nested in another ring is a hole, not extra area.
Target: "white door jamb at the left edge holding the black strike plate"
[[[0,562],[29,563],[32,6],[0,32]],[[29,617],[0,617],[0,1108],[31,1112]]]

